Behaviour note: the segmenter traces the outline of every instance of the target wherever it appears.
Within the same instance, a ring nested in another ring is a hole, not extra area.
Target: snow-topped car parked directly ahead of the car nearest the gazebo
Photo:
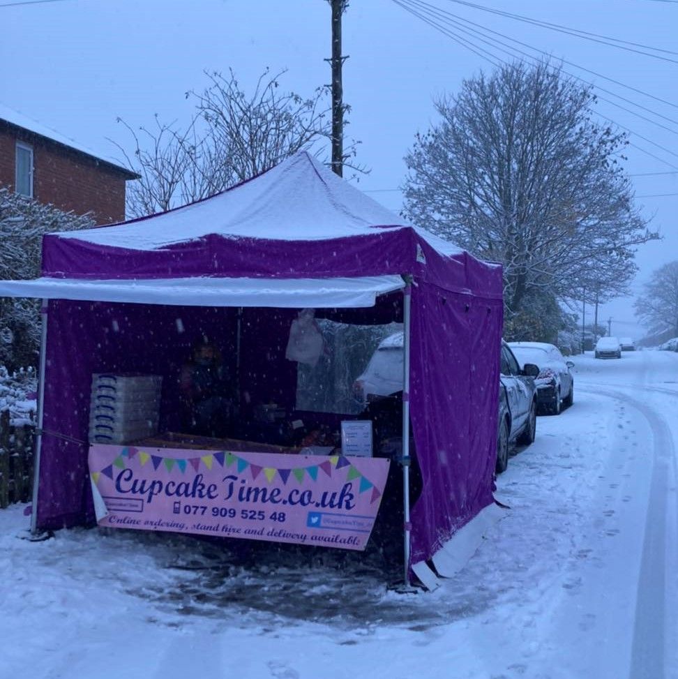
[[[521,366],[532,363],[539,368],[534,380],[537,405],[541,412],[559,415],[562,408],[574,402],[574,378],[560,350],[545,342],[509,342],[509,347]]]

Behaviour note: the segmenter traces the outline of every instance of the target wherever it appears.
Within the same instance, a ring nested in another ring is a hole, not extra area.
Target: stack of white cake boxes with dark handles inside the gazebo
[[[94,373],[89,441],[125,444],[157,433],[162,386],[160,375]]]

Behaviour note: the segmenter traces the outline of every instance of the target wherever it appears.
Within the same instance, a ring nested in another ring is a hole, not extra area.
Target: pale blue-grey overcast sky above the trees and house
[[[205,84],[202,70],[233,68],[250,89],[264,67],[287,68],[285,89],[310,94],[329,82],[330,11],[325,0],[61,0],[5,6],[0,0],[0,102],[59,130],[105,156],[120,157],[108,139],[129,147],[116,117],[138,126],[157,113],[185,119],[188,89]],[[442,10],[504,33],[555,59],[597,71],[678,104],[678,64],[608,47],[484,13],[452,0],[427,0]],[[656,0],[477,0],[490,8],[678,52],[678,3]],[[467,24],[467,27],[469,24]],[[352,107],[347,133],[361,141],[358,161],[371,169],[360,188],[391,209],[400,208],[405,177],[402,157],[414,133],[434,118],[432,99],[457,91],[465,77],[492,65],[455,43],[392,0],[352,0],[344,17],[345,100]],[[496,47],[480,43],[508,59]],[[499,36],[494,36],[499,38]],[[489,39],[489,38],[488,38]],[[499,38],[509,42],[506,38]],[[515,45],[530,52],[527,47]],[[627,45],[627,47],[631,47]],[[633,49],[641,49],[633,47]],[[678,61],[676,54],[663,54]],[[596,110],[636,135],[631,142],[657,156],[628,149],[638,196],[678,193],[678,107],[665,105],[590,73],[568,72],[647,107],[615,99],[619,106],[656,120],[663,129],[601,101]],[[664,147],[663,150],[654,144]],[[664,161],[664,162],[662,162]],[[669,164],[667,164],[669,163]],[[642,197],[647,216],[665,239],[638,253],[636,287],[661,264],[678,258],[678,196]],[[612,332],[640,336],[631,300],[601,310]],[[588,313],[587,313],[587,320]]]

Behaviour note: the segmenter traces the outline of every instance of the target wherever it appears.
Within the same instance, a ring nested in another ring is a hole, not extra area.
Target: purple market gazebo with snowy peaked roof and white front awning
[[[293,407],[284,329],[306,307],[404,323],[403,454],[411,418],[423,486],[410,511],[405,464],[406,574],[428,579],[429,559],[446,574],[446,543],[491,512],[501,267],[408,225],[305,152],[186,207],[49,234],[43,277],[0,281],[0,295],[45,300],[33,530],[93,522],[92,373],[142,366],[170,379],[199,328],[238,343],[229,367],[253,398]],[[163,399],[169,427],[177,405]]]

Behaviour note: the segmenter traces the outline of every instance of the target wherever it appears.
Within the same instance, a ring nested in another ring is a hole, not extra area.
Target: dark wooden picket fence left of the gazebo
[[[9,410],[0,412],[0,509],[31,498],[35,431],[34,424],[10,424]]]

